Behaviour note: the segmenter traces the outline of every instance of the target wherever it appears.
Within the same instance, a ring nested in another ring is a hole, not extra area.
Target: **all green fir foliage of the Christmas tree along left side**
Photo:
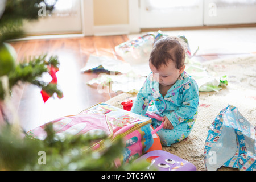
[[[23,20],[38,19],[38,3],[41,0],[7,0],[5,11],[0,17],[0,45],[12,39],[22,38]],[[53,7],[47,7],[51,11]],[[0,47],[1,48],[1,47]],[[6,55],[13,56],[10,52]],[[6,56],[3,56],[6,57]],[[2,61],[2,60],[0,60]],[[9,64],[9,60],[2,65]],[[4,67],[4,66],[2,66]],[[30,57],[29,60],[17,60],[14,69],[6,69],[3,76],[9,79],[9,88],[20,83],[30,83],[42,88],[49,96],[57,93],[60,98],[61,90],[56,83],[42,81],[49,67],[58,69],[59,61],[56,56],[47,59],[47,55]],[[10,66],[9,66],[10,67]],[[7,72],[8,70],[8,72]],[[10,70],[10,71],[9,71]],[[2,75],[1,75],[2,76]],[[0,78],[1,78],[0,76]],[[5,92],[0,79],[0,111],[5,99]],[[1,114],[1,113],[0,113]],[[10,122],[11,123],[11,122]],[[124,150],[122,138],[110,142],[106,136],[96,135],[56,135],[51,124],[46,125],[46,138],[39,140],[31,138],[22,132],[15,132],[14,127],[5,123],[0,127],[0,170],[143,170],[145,165],[134,166],[125,163],[117,168],[114,160],[122,155]],[[20,129],[21,130],[21,129]],[[92,144],[102,140],[104,150],[92,150]]]

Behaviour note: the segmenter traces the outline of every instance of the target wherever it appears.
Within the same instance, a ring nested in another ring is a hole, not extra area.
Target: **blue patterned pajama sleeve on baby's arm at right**
[[[195,80],[191,80],[188,84],[183,85],[180,92],[183,96],[181,106],[179,109],[166,115],[174,127],[188,119],[192,119],[193,115],[197,113],[199,104],[198,86]]]

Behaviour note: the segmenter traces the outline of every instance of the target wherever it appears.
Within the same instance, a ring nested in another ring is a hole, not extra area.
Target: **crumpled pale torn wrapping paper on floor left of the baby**
[[[97,78],[88,81],[87,84],[98,88],[98,92],[104,92],[105,86],[110,86],[113,92],[138,92],[150,73],[148,64],[134,65],[111,57],[98,57],[90,55],[87,64],[81,69],[86,71],[108,71],[109,74],[101,73]],[[115,72],[122,74],[115,75]],[[143,77],[144,76],[144,77]]]

